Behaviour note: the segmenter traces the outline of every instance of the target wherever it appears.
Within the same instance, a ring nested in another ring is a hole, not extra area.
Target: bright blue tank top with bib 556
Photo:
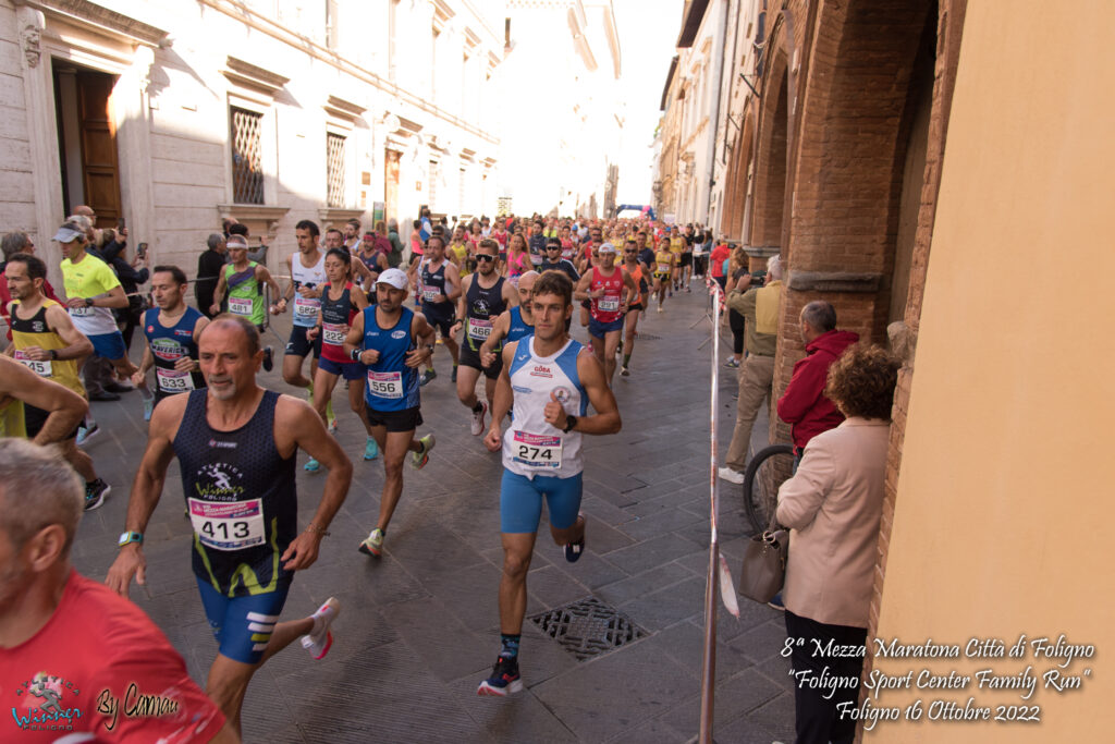
[[[410,335],[414,310],[400,308],[399,320],[391,328],[380,328],[376,308],[363,309],[363,348],[379,351],[376,364],[368,365],[363,398],[372,410],[406,410],[419,405],[418,370],[407,367],[407,352],[415,348]]]

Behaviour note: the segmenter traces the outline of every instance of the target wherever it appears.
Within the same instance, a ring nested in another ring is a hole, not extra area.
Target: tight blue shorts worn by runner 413
[[[290,581],[278,582],[274,591],[248,597],[226,597],[206,579],[197,578],[205,617],[213,629],[222,656],[233,661],[259,664],[287,603]]]

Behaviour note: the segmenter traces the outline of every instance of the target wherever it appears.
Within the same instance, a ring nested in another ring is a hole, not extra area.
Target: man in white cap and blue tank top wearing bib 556
[[[352,361],[366,365],[365,403],[371,435],[384,453],[384,492],[379,520],[360,543],[360,552],[379,558],[384,535],[403,495],[403,460],[413,453],[411,466],[429,461],[434,435],[415,438],[421,426],[418,368],[434,355],[434,328],[420,312],[403,306],[407,299],[407,276],[388,269],[376,281],[379,300],[352,319],[345,351]]]

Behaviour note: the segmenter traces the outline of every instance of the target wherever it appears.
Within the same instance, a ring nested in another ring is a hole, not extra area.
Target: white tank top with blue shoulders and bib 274
[[[584,470],[581,434],[563,434],[546,423],[545,407],[553,393],[566,414],[583,416],[589,396],[576,374],[576,357],[584,347],[569,339],[556,354],[534,354],[534,337],[520,339],[512,359],[511,389],[514,417],[503,435],[503,466],[512,473],[534,477],[572,477]]]

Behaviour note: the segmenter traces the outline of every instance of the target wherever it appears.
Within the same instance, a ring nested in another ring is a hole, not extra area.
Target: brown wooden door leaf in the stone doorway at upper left
[[[85,203],[97,214],[98,228],[115,228],[122,216],[120,177],[116,158],[116,124],[112,95],[116,78],[104,73],[77,74],[78,127]]]

